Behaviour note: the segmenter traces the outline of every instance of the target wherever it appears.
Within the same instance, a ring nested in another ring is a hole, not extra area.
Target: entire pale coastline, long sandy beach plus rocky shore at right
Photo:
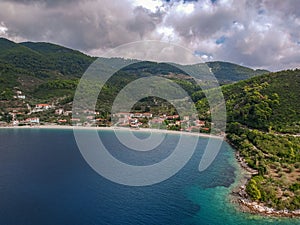
[[[223,136],[204,134],[204,133],[192,133],[185,131],[172,131],[172,130],[160,130],[151,128],[127,128],[127,127],[83,127],[83,126],[68,126],[68,125],[39,125],[39,126],[7,126],[0,127],[0,129],[67,129],[67,130],[120,130],[120,131],[133,131],[133,132],[155,132],[155,133],[167,133],[167,134],[180,134],[189,136],[198,136],[204,138],[217,138],[224,139],[235,150],[235,160],[238,166],[237,182],[230,190],[229,201],[235,206],[236,210],[251,213],[254,215],[268,216],[268,217],[286,217],[286,218],[300,218],[300,209],[295,211],[288,210],[276,210],[265,206],[262,203],[258,203],[250,200],[245,191],[246,185],[251,177],[257,174],[257,171],[248,167],[244,159],[239,155],[236,146],[232,145],[230,141]]]

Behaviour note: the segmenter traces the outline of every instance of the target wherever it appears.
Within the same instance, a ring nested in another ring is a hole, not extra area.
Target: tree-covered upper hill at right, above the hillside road
[[[257,76],[223,86],[229,122],[280,133],[300,133],[300,70]]]

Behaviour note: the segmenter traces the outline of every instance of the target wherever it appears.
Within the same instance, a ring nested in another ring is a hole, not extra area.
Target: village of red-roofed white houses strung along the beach
[[[82,115],[72,115],[72,103],[61,105],[57,102],[30,104],[20,90],[15,91],[13,104],[1,105],[6,112],[0,114],[0,126],[43,126],[67,125],[83,127],[129,127],[177,130],[186,132],[210,132],[210,123],[199,120],[197,115],[176,113],[119,112],[100,113],[96,110],[83,110]],[[3,103],[3,102],[1,102]],[[83,116],[84,115],[84,116]]]

